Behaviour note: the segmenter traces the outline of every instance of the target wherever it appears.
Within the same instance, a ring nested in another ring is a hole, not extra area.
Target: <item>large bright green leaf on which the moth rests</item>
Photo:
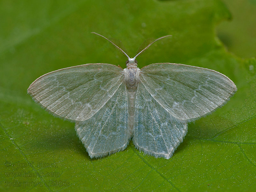
[[[1,191],[252,191],[256,188],[256,60],[226,51],[215,26],[231,17],[218,0],[1,1]],[[188,125],[169,160],[132,142],[90,159],[74,124],[54,118],[26,90],[37,77],[85,63],[125,67],[103,38],[135,54],[149,37],[172,35],[138,58],[138,67],[172,62],[228,76],[235,96]]]

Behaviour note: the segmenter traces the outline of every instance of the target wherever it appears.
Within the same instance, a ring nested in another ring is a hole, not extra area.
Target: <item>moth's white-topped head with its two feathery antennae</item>
[[[98,33],[95,33],[95,32],[91,32],[91,33],[94,33],[96,35],[99,35],[99,36],[102,36]],[[154,38],[149,38],[149,39],[146,39],[139,47],[138,51],[136,52],[136,55],[135,57],[133,58],[130,58],[128,56],[128,53],[124,47],[124,45],[122,44],[121,41],[119,41],[118,39],[115,39],[115,38],[106,38],[104,36],[102,36],[103,38],[107,39],[112,45],[114,45],[114,47],[117,49],[118,52],[120,52],[122,55],[124,55],[125,57],[128,58],[128,60],[125,62],[126,66],[127,65],[136,65],[137,67],[137,60],[135,60],[136,57],[142,55],[147,49],[148,47],[150,47],[150,45],[152,45],[153,43],[155,43],[156,41],[158,41],[159,39],[162,39],[164,37],[168,37],[168,36],[171,36],[171,35],[167,35],[167,36],[163,36],[163,37],[160,37],[158,39],[154,39]]]

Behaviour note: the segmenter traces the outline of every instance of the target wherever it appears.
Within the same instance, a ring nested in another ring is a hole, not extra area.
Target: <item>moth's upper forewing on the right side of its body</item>
[[[206,68],[155,63],[140,70],[141,83],[177,122],[188,123],[207,115],[237,90],[227,76]]]

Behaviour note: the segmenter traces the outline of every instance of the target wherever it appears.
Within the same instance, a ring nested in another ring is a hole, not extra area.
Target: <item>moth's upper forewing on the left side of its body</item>
[[[83,122],[114,95],[123,82],[122,71],[103,63],[64,68],[36,79],[28,93],[52,114]]]

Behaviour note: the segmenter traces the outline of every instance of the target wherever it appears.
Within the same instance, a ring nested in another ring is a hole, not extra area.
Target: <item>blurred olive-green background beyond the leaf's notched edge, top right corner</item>
[[[256,0],[223,0],[232,17],[217,26],[217,36],[229,52],[241,58],[256,55]]]

